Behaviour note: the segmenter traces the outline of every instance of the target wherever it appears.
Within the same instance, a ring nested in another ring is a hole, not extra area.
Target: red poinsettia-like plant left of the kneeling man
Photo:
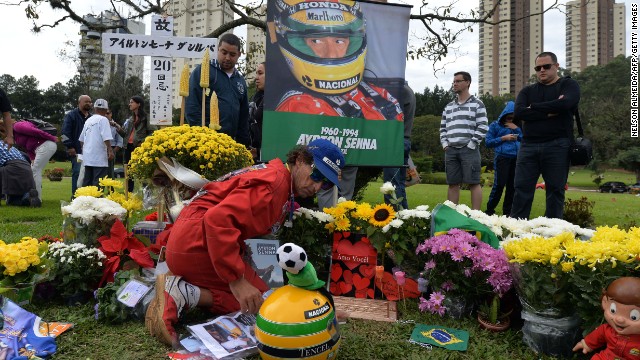
[[[99,287],[112,282],[113,275],[129,259],[143,268],[154,266],[147,247],[133,236],[133,233],[128,233],[119,219],[111,227],[110,236],[101,236],[98,241],[102,245],[100,251],[107,257]]]

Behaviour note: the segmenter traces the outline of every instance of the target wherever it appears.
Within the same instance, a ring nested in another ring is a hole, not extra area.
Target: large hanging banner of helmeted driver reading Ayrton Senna
[[[266,68],[277,81],[266,82],[262,159],[326,138],[349,165],[402,165],[410,14],[396,4],[269,1]]]

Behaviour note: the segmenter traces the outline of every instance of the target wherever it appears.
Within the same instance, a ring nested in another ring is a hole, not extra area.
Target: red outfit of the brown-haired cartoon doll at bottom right
[[[607,345],[607,348],[593,355],[597,360],[639,360],[640,334],[619,335],[609,324],[602,324],[584,338],[584,342],[591,349]]]

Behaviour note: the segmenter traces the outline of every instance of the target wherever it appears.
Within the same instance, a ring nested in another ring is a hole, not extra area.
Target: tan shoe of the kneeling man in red
[[[193,287],[180,276],[158,275],[156,278],[156,295],[149,304],[144,319],[144,325],[152,336],[174,348],[179,346],[178,334],[174,325],[180,319],[180,315],[191,306],[187,298],[180,291],[183,288]]]

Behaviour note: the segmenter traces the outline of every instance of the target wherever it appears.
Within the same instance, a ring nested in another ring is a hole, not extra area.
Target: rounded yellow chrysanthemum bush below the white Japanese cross
[[[174,158],[209,180],[253,163],[249,150],[230,136],[202,126],[182,125],[166,127],[148,136],[131,154],[129,174],[137,179],[151,179],[162,157]]]

